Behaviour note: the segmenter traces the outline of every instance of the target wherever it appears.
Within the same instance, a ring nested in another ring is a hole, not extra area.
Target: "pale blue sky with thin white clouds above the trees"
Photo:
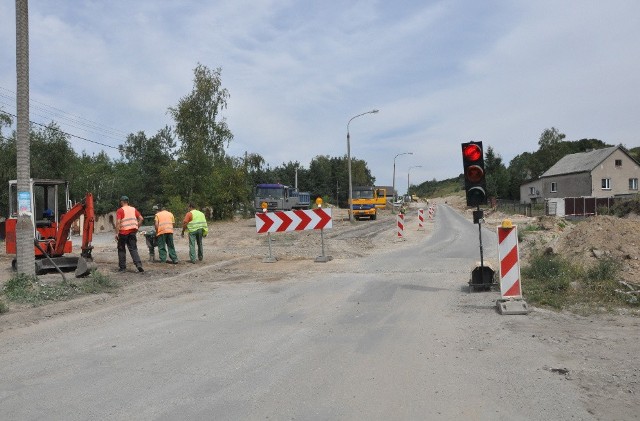
[[[11,114],[15,22],[0,0]],[[639,41],[636,0],[30,0],[30,119],[118,159],[128,134],[174,124],[202,64],[230,94],[228,155],[309,168],[345,156],[348,131],[351,157],[402,193],[457,177],[471,140],[506,165],[551,127],[640,146]]]

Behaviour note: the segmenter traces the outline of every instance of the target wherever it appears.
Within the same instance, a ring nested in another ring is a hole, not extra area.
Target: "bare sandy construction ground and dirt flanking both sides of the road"
[[[471,219],[458,196],[436,199],[430,204],[447,204]],[[354,259],[402,247],[415,247],[428,239],[433,224],[425,212],[424,232],[417,234],[417,209],[428,208],[427,203],[414,203],[405,221],[407,234],[397,237],[395,214],[380,213],[376,221],[350,223],[344,209],[332,209],[333,227],[320,231],[298,231],[271,235],[271,255],[274,263],[265,263],[270,255],[268,236],[256,233],[255,219],[235,219],[215,222],[204,239],[204,260],[189,263],[188,241],[175,237],[180,262],[177,265],[149,261],[144,237],[138,248],[144,273],[138,273],[127,255],[128,270],[119,273],[116,243],[113,233],[94,238],[94,259],[101,273],[117,281],[113,292],[79,296],[66,301],[47,302],[37,307],[9,303],[9,312],[0,315],[0,334],[28,331],[35,324],[49,318],[80,317],[82,313],[105,308],[120,308],[144,304],[146,301],[188,295],[212,290],[220,283],[279,282],[291,273],[301,275],[315,272],[341,272]],[[638,217],[591,217],[580,222],[559,221],[558,218],[531,218],[504,215],[488,211],[485,225],[495,227],[510,218],[519,227],[536,225],[543,229],[530,230],[520,244],[521,262],[534,248],[550,248],[555,253],[577,258],[585,263],[598,256],[611,255],[624,262],[621,280],[638,284],[640,280],[640,219]],[[436,215],[437,219],[437,215]],[[78,238],[74,238],[74,247]],[[488,246],[487,246],[488,247]],[[323,254],[324,250],[324,254]],[[317,263],[318,256],[330,256],[330,262]],[[496,262],[493,262],[495,264]],[[13,276],[11,257],[0,258],[0,282]],[[67,275],[74,282],[73,274]],[[58,282],[59,274],[39,277],[40,282]],[[463,292],[461,292],[463,293]],[[525,291],[526,298],[526,291]],[[495,300],[495,296],[487,298]],[[640,317],[631,311],[598,312],[580,316],[542,308],[531,308],[525,323],[531,335],[544,341],[549,352],[566,355],[579,361],[581,370],[566,374],[569,381],[579,381],[580,387],[593,400],[593,405],[605,405],[612,416],[605,419],[639,419],[640,404]],[[597,364],[596,364],[597,363]],[[579,377],[579,378],[578,378]]]

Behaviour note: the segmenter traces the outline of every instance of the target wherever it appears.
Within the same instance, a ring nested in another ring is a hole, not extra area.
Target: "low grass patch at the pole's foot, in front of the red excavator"
[[[39,306],[47,301],[67,300],[82,294],[96,294],[117,288],[118,284],[109,276],[94,270],[91,275],[75,282],[44,283],[37,276],[17,274],[2,288],[2,295],[9,302]],[[5,304],[4,311],[8,311]]]

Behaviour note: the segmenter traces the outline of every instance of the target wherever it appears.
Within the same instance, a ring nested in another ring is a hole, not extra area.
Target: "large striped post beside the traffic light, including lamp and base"
[[[527,314],[527,303],[522,299],[518,227],[505,219],[497,229],[501,299],[496,305],[501,314]]]

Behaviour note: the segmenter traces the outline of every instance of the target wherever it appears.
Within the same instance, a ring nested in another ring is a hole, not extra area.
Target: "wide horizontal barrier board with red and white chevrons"
[[[331,228],[331,209],[277,211],[256,213],[258,234]]]

